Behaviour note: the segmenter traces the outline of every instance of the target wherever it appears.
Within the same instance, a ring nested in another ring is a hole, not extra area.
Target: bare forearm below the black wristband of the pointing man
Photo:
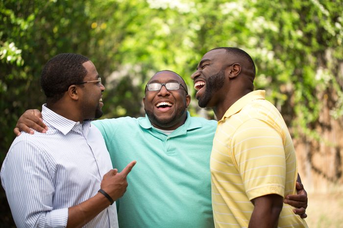
[[[109,200],[98,193],[79,205],[69,207],[67,227],[83,227],[109,205]]]

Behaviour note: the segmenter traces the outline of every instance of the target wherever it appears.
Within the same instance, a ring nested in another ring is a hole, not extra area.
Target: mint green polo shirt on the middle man
[[[213,228],[210,154],[217,121],[191,117],[165,135],[146,117],[92,122],[119,172],[132,160],[117,201],[120,228]]]

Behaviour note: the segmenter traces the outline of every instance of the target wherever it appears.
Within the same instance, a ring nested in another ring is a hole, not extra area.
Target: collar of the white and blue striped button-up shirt
[[[47,124],[62,132],[63,135],[67,135],[74,128],[75,125],[80,124],[80,122],[75,122],[53,112],[52,110],[47,108],[47,104],[42,105],[42,116]],[[91,121],[83,121],[82,129],[83,131],[85,131],[85,135],[87,135],[90,125]]]

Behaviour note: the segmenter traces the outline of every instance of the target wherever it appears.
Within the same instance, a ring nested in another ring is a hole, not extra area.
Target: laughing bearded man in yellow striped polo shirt
[[[255,65],[243,50],[207,52],[192,75],[200,107],[219,122],[211,153],[216,227],[307,227],[294,207],[297,163],[291,135],[265,91],[253,91]]]

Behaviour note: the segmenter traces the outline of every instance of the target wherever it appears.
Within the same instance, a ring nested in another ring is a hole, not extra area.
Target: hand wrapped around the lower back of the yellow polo
[[[307,192],[305,191],[304,186],[300,182],[296,182],[295,187],[298,194],[286,196],[286,199],[284,199],[284,203],[297,207],[293,210],[294,213],[300,215],[300,218],[304,219],[307,217]]]

